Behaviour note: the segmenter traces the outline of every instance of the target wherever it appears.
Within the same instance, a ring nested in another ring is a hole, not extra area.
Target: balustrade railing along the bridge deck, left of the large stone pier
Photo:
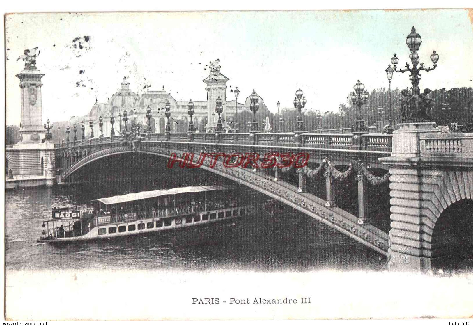
[[[96,137],[62,144],[56,148],[94,146],[110,142],[119,143],[122,136]],[[145,141],[193,142],[209,144],[241,144],[281,147],[333,148],[390,152],[392,135],[364,134],[357,139],[351,133],[149,133],[142,134]]]

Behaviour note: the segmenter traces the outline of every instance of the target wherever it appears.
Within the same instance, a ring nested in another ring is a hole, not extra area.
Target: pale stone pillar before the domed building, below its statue
[[[207,85],[205,90],[207,91],[207,125],[205,126],[205,132],[209,132],[210,130],[215,131],[217,128],[217,120],[214,119],[212,113],[215,113],[215,100],[220,96],[223,103],[223,112],[221,113],[222,118],[222,126],[223,129],[228,129],[227,123],[227,110],[226,110],[226,103],[227,99],[225,96],[225,90],[227,89],[227,81],[229,78],[222,75],[219,71],[210,70],[210,75],[203,80],[203,82]]]

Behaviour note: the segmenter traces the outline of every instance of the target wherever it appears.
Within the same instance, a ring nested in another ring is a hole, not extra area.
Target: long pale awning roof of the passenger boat
[[[173,188],[168,190],[151,190],[151,191],[141,191],[134,194],[126,194],[121,196],[114,196],[108,198],[96,199],[104,203],[105,205],[124,203],[134,200],[154,198],[166,195],[176,195],[186,192],[202,192],[202,191],[214,191],[214,190],[229,190],[233,189],[228,186],[195,186],[195,187],[182,187],[182,188]]]

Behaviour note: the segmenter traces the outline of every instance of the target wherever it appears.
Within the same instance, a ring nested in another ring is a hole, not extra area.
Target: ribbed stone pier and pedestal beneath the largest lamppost
[[[420,137],[435,133],[434,122],[401,123],[393,132],[390,157],[379,160],[389,165],[391,231],[389,232],[388,269],[426,272],[431,269],[431,243],[434,223],[439,215],[432,205],[425,183],[432,171],[421,164]],[[432,213],[432,211],[434,213]]]

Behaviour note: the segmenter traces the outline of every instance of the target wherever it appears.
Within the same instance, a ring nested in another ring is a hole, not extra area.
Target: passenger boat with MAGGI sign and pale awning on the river
[[[152,190],[93,200],[91,206],[54,207],[38,242],[111,239],[234,221],[254,213],[252,191],[225,186]]]

